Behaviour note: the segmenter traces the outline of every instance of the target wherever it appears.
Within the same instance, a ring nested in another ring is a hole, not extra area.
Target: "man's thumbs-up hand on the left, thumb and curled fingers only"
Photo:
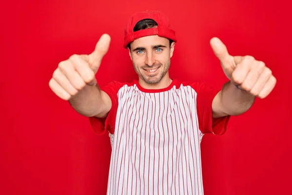
[[[52,91],[64,100],[69,100],[86,85],[95,85],[95,74],[101,64],[102,58],[108,52],[110,36],[101,36],[95,50],[89,55],[72,55],[69,59],[61,61],[49,81]]]

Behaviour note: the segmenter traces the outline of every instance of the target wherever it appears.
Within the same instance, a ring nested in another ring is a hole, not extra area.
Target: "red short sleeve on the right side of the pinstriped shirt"
[[[212,102],[221,89],[215,89],[206,83],[194,83],[197,93],[196,106],[199,119],[199,128],[203,134],[223,135],[227,129],[230,116],[213,118]]]

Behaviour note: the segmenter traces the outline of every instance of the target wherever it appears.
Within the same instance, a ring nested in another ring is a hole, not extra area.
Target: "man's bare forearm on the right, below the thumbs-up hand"
[[[230,81],[225,83],[219,94],[221,98],[221,110],[226,115],[237,116],[250,109],[255,101],[255,96],[248,92],[238,89]]]

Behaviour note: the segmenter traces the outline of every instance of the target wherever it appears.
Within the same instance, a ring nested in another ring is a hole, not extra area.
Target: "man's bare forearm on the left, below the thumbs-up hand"
[[[98,85],[85,86],[80,92],[73,96],[69,103],[76,112],[85,116],[93,117],[99,115],[103,109],[104,102]]]

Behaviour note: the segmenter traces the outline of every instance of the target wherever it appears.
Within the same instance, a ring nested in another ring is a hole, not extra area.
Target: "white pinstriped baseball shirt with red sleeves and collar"
[[[105,119],[90,117],[111,142],[108,195],[203,195],[200,143],[225,133],[229,116],[212,118],[219,90],[173,79],[149,90],[112,81],[102,88],[112,107]]]

